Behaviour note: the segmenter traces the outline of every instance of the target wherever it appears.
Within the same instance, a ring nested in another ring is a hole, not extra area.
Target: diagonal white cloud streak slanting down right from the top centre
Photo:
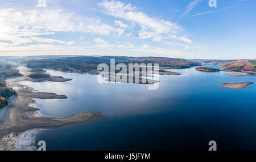
[[[183,31],[176,23],[151,18],[144,12],[136,11],[137,7],[131,6],[131,4],[126,5],[119,1],[102,1],[98,5],[105,8],[104,13],[107,15],[140,25],[141,31],[138,33],[140,39],[152,38],[154,41],[160,41],[162,39],[170,39],[171,37],[168,37],[170,34],[176,35]],[[115,22],[115,24],[120,23],[122,22]],[[183,39],[180,40],[183,41]]]

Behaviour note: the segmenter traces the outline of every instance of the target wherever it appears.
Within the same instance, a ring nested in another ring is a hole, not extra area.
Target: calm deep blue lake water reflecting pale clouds
[[[148,90],[143,84],[99,84],[97,75],[47,71],[73,80],[26,82],[39,91],[68,96],[36,99],[40,113],[102,114],[90,123],[42,131],[36,143],[46,141],[47,150],[208,150],[210,140],[218,150],[256,150],[256,84],[221,87],[255,82],[255,76],[170,69],[181,75],[161,75],[159,88]]]

